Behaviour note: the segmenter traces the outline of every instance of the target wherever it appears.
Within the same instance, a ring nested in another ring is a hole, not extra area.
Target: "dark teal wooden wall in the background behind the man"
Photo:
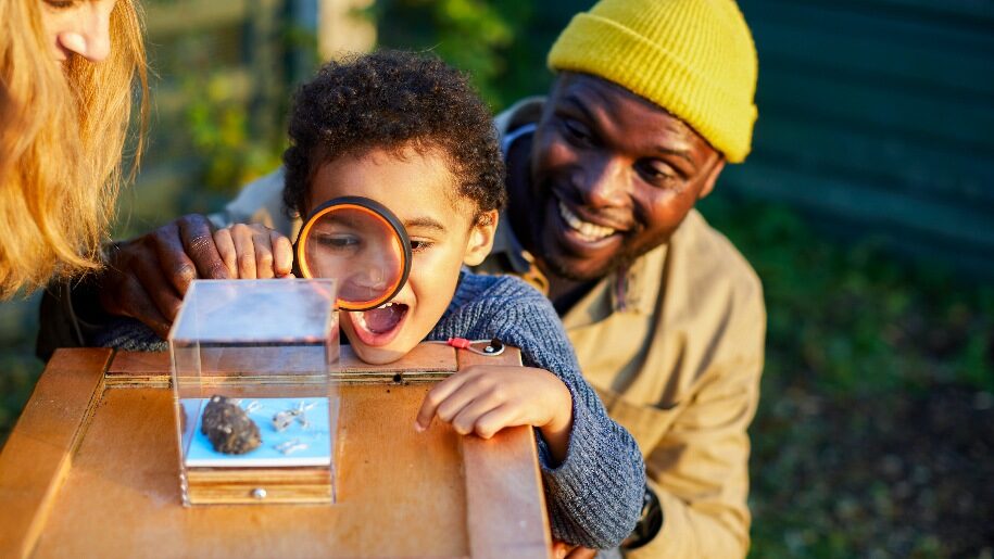
[[[754,151],[721,188],[994,272],[994,2],[741,0]]]

